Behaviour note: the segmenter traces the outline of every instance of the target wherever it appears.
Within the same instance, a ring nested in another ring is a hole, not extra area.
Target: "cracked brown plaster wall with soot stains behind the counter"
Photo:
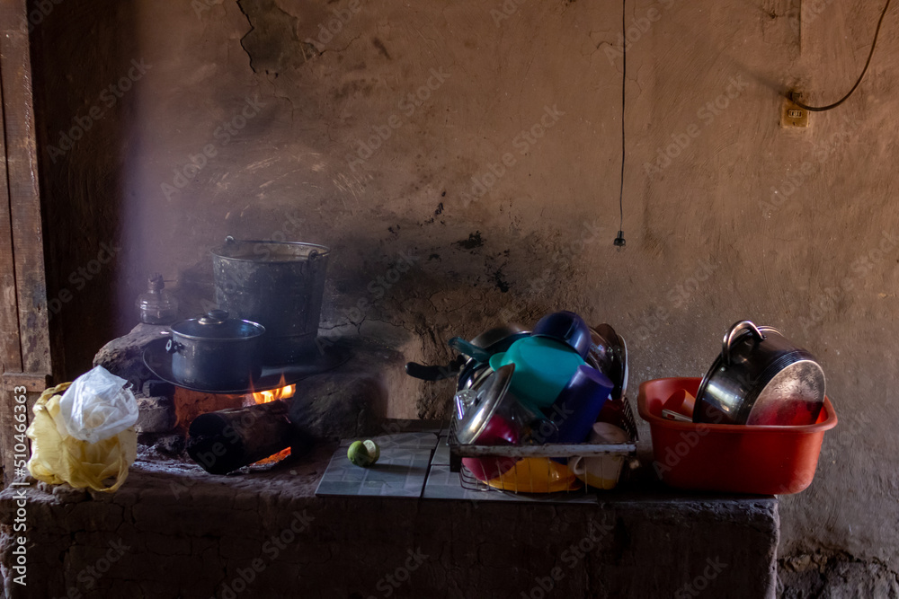
[[[817,354],[841,418],[812,487],[782,498],[781,553],[846,551],[895,572],[895,14],[851,101],[779,128],[788,86],[814,102],[849,87],[877,10],[628,3],[617,251],[620,3],[67,0],[36,34],[45,141],[131,57],[152,65],[49,169],[54,218],[124,241],[57,319],[71,371],[135,322],[149,272],[210,296],[208,251],[228,233],[330,245],[325,328],[381,335],[410,359],[448,361],[455,334],[564,307],[628,339],[636,394],[702,374],[749,317]],[[530,143],[521,132],[541,119]],[[50,237],[52,295],[93,256]],[[393,415],[442,413],[450,389],[397,376]]]

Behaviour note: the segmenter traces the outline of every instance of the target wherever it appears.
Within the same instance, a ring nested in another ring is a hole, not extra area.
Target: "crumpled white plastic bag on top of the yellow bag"
[[[76,378],[59,400],[64,426],[59,434],[96,443],[133,427],[138,421],[138,400],[124,388],[125,383],[102,366]]]

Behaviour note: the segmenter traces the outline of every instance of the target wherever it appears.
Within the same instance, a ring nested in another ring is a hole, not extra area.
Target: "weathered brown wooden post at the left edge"
[[[15,475],[15,398],[31,405],[50,383],[38,156],[25,0],[0,0],[0,452],[4,482]],[[7,182],[8,181],[8,182]]]

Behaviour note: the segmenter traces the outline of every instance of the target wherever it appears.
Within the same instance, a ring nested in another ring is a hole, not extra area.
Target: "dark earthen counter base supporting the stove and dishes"
[[[602,492],[599,505],[316,498],[336,446],[233,476],[145,455],[111,495],[35,483],[24,491],[28,594],[773,596],[776,498],[651,480]],[[17,492],[0,494],[12,596]],[[103,561],[111,543],[128,548],[114,564]],[[108,573],[91,574],[98,566]]]

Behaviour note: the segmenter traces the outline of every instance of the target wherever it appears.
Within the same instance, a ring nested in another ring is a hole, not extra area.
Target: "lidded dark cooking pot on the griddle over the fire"
[[[261,374],[259,340],[265,328],[229,319],[223,310],[175,322],[165,351],[172,355],[178,383],[210,392],[247,389]]]

